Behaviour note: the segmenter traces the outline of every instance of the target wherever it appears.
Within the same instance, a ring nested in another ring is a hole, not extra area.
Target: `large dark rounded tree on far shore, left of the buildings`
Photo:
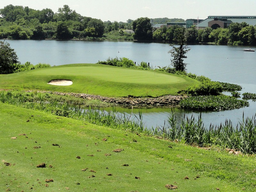
[[[141,17],[136,19],[132,23],[132,29],[134,31],[134,39],[136,40],[152,40],[153,32],[150,19],[147,17]]]

